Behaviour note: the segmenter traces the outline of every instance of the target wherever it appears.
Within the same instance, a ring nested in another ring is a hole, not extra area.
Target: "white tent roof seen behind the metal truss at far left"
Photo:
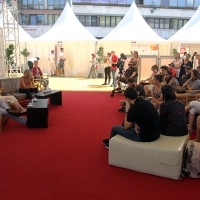
[[[8,21],[13,21],[13,15],[10,13],[10,11],[8,10]],[[15,24],[17,24],[17,22],[15,21]],[[9,25],[10,28],[12,28],[11,25]],[[0,14],[0,27],[3,28],[3,14]],[[9,36],[11,40],[14,39],[14,37],[12,35]],[[20,42],[30,42],[33,41],[34,39],[28,34],[26,33],[26,31],[24,31],[24,29],[19,25],[19,41]]]

